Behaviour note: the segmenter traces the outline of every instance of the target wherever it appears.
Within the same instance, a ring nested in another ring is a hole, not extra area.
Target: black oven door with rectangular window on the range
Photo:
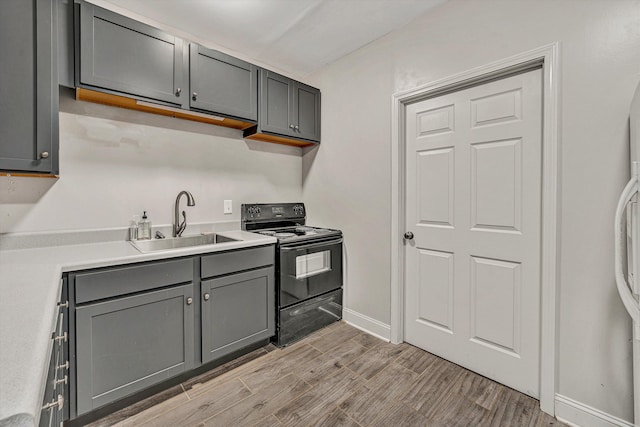
[[[280,246],[280,307],[342,287],[342,238]]]

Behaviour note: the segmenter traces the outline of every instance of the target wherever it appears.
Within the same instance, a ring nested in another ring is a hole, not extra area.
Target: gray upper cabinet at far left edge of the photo
[[[0,170],[58,173],[57,7],[3,0]]]

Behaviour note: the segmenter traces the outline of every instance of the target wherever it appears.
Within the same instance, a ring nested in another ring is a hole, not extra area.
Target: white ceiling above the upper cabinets
[[[446,0],[102,0],[306,76]]]

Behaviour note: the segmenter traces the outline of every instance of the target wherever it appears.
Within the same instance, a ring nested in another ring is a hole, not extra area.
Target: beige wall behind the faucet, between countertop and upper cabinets
[[[0,233],[127,227],[143,210],[168,225],[181,190],[196,201],[191,224],[239,221],[241,203],[301,199],[300,148],[63,93],[60,179],[0,178]]]

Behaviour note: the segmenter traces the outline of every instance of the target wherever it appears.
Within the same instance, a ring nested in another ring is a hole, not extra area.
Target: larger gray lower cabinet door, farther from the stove
[[[76,308],[77,413],[194,366],[193,285]]]

